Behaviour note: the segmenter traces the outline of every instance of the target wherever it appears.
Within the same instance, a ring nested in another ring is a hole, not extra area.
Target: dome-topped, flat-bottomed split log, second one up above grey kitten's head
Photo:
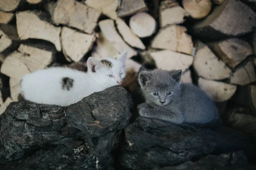
[[[185,54],[192,54],[193,52],[192,37],[186,34],[186,27],[177,25],[160,29],[152,41],[151,47]]]

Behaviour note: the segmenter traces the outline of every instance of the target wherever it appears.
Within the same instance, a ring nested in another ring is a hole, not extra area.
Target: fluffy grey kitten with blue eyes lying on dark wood
[[[155,69],[139,74],[145,103],[140,116],[155,117],[176,124],[205,124],[218,119],[215,103],[199,87],[180,84],[181,70]]]

